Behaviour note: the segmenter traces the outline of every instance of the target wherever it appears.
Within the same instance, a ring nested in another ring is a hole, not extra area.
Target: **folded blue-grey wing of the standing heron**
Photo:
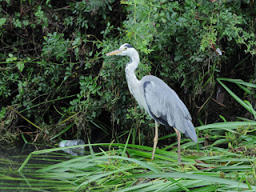
[[[152,118],[165,126],[174,126],[194,142],[198,136],[191,122],[190,112],[178,98],[178,94],[165,82],[154,76],[146,76],[143,82],[147,110]]]

